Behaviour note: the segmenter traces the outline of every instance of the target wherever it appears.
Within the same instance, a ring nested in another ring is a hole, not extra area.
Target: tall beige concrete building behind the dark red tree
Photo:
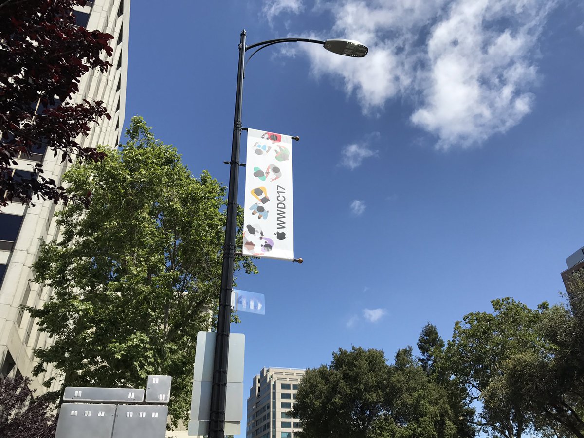
[[[107,72],[89,71],[79,84],[79,93],[72,101],[102,100],[112,120],[103,118],[93,123],[91,134],[79,139],[84,146],[117,145],[124,124],[126,103],[126,66],[128,61],[128,30],[130,29],[130,0],[95,0],[76,12],[77,24],[87,29],[99,29],[114,36],[110,41],[113,55]],[[35,151],[36,152],[36,151]],[[44,176],[60,182],[67,170],[67,162],[45,154],[43,150],[31,157],[18,158],[15,173],[27,171],[36,162],[43,163]],[[0,213],[0,378],[24,374],[32,377],[36,364],[33,349],[50,345],[36,321],[20,310],[21,304],[40,307],[51,296],[50,288],[33,283],[32,263],[37,258],[40,240],[58,238],[52,201],[36,201],[35,207],[13,203]],[[32,388],[37,394],[46,391],[41,385],[53,373],[33,378]],[[54,386],[58,382],[54,383]]]

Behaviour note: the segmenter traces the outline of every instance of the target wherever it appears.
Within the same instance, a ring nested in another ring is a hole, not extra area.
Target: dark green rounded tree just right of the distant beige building
[[[330,366],[307,370],[293,416],[298,437],[455,438],[446,391],[399,350],[389,366],[383,351],[353,347],[333,353]]]

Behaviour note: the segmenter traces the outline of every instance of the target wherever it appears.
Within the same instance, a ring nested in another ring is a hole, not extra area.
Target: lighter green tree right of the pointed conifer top
[[[532,395],[509,385],[507,373],[521,357],[547,350],[538,332],[543,303],[537,310],[512,298],[491,301],[493,314],[474,312],[454,325],[446,360],[468,388],[469,401],[481,401],[479,430],[493,437],[521,438],[534,426]]]

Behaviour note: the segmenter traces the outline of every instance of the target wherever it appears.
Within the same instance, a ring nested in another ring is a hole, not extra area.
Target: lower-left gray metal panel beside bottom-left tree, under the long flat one
[[[64,403],[55,438],[111,438],[115,418],[115,405]]]

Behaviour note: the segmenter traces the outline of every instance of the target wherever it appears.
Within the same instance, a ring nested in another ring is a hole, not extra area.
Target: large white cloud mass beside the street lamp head
[[[369,54],[347,59],[314,44],[301,50],[315,75],[340,77],[364,113],[405,97],[414,105],[412,123],[435,135],[437,148],[468,147],[504,133],[531,112],[537,39],[556,4],[324,0],[319,7],[334,19],[330,33],[360,40]]]

